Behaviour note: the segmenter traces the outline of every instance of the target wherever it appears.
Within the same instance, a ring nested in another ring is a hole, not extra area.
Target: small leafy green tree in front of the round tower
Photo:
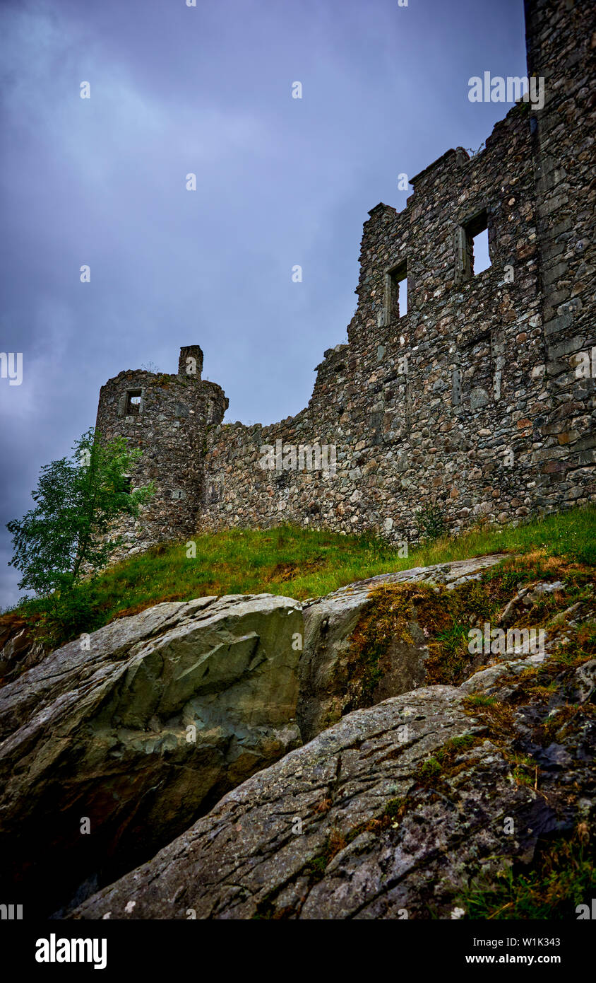
[[[142,455],[124,437],[103,440],[92,428],[75,441],[71,457],[41,468],[35,507],[7,524],[15,549],[11,566],[21,589],[38,597],[73,592],[81,577],[104,567],[122,540],[109,541],[115,521],[136,516],[153,484],[132,491],[127,475]]]

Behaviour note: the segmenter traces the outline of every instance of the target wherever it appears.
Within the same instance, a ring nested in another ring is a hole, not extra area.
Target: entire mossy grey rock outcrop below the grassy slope
[[[502,558],[303,610],[161,604],[21,671],[0,689],[3,885],[29,916],[456,917],[545,838],[589,841],[593,573]]]

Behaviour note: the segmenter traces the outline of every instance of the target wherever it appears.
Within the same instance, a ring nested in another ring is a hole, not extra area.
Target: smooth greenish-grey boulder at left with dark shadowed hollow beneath
[[[121,618],[0,690],[2,883],[30,916],[86,896],[299,743],[296,601]]]

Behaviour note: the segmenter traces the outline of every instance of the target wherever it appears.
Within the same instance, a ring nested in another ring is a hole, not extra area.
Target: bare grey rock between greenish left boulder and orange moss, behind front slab
[[[453,563],[412,567],[343,587],[304,607],[304,651],[299,663],[298,723],[304,741],[340,720],[358,706],[363,695],[353,683],[351,650],[354,630],[363,612],[371,607],[374,588],[396,584],[443,584],[448,589],[478,579],[482,572],[504,559],[503,554],[480,556]],[[383,671],[370,687],[367,703],[399,696],[425,682],[428,656],[424,625],[415,608],[403,637],[394,635],[384,653]],[[347,681],[351,679],[352,685]],[[361,689],[361,687],[360,687]],[[354,706],[355,703],[355,706]]]

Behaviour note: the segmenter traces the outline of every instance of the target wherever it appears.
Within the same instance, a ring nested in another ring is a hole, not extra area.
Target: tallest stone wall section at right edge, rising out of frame
[[[545,79],[532,164],[545,348],[545,408],[534,421],[541,488],[556,503],[594,497],[596,23],[581,0],[526,0],[528,75]],[[577,376],[590,353],[591,376]]]

